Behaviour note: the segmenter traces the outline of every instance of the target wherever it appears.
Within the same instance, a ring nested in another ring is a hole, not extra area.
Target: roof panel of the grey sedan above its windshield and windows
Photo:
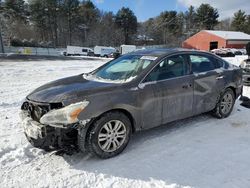
[[[159,49],[143,49],[143,50],[137,50],[130,55],[144,55],[144,56],[166,56],[172,53],[176,52],[203,52],[198,50],[190,50],[190,49],[184,49],[184,48],[159,48]]]

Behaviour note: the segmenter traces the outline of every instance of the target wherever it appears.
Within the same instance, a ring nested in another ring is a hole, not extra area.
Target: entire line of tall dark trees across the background
[[[0,0],[0,31],[13,46],[179,46],[202,29],[250,33],[250,15],[244,11],[220,22],[218,18],[217,9],[209,4],[191,6],[186,12],[164,11],[138,23],[129,8],[114,14],[86,0]]]

